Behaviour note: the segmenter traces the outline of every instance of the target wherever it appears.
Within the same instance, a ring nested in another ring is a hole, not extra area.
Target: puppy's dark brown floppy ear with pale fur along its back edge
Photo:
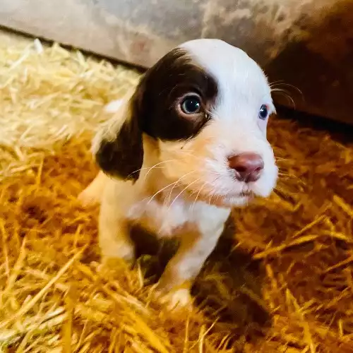
[[[138,179],[143,164],[143,136],[134,96],[121,110],[124,115],[115,114],[112,124],[96,136],[92,147],[104,173],[132,181]]]

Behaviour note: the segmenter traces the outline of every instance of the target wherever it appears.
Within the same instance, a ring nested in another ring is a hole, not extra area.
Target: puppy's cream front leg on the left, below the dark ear
[[[119,198],[114,188],[106,188],[100,205],[99,244],[102,263],[122,258],[132,262],[135,249],[129,234],[129,227],[124,213],[119,207]]]

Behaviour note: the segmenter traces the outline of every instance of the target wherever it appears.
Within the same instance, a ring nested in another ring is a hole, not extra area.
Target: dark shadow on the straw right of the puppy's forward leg
[[[239,331],[251,334],[270,325],[270,316],[262,298],[261,261],[235,248],[236,228],[229,219],[215,251],[208,258],[193,287],[198,306],[213,319],[237,323]],[[226,289],[226,290],[225,290]]]

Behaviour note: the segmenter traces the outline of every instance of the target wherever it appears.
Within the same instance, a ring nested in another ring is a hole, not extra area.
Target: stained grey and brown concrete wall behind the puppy
[[[352,13],[350,0],[0,0],[0,25],[139,66],[221,38],[297,86],[281,87],[297,109],[353,122]]]

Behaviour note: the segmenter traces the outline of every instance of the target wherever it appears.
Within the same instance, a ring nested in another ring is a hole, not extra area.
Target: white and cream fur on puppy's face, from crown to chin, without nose
[[[214,193],[214,199],[229,206],[246,204],[246,198],[237,196],[241,191],[269,196],[277,180],[277,167],[266,139],[267,120],[258,119],[258,112],[262,104],[268,105],[270,113],[275,108],[263,71],[241,49],[221,40],[193,40],[181,47],[216,78],[219,92],[210,112],[213,119],[197,138],[186,143],[160,143],[161,160],[179,159],[179,163],[165,164],[165,173],[179,179],[196,169],[183,183],[199,179],[191,189],[202,187],[206,195]],[[229,155],[244,152],[261,155],[265,165],[261,178],[249,184],[236,181],[227,162]]]

